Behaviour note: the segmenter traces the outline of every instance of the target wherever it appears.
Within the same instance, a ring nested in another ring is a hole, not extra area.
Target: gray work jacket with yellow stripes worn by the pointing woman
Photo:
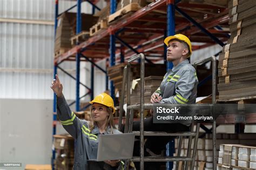
[[[57,97],[57,117],[65,130],[76,140],[75,158],[73,169],[98,170],[98,169],[123,169],[123,164],[119,162],[118,167],[111,167],[105,162],[89,161],[97,159],[98,136],[100,134],[97,126],[90,131],[89,123],[81,120],[70,110],[69,105],[63,97]],[[107,128],[103,134],[121,133],[113,128]]]

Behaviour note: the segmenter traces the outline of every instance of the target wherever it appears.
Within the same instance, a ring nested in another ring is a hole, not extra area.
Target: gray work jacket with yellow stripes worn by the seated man
[[[186,59],[165,74],[156,92],[162,97],[160,103],[194,104],[197,85],[197,72]]]

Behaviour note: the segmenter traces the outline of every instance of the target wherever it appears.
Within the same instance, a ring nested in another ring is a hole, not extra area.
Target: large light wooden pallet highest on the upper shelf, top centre
[[[114,12],[112,15],[109,16],[109,23],[123,17],[129,12],[138,11],[139,9],[141,9],[141,7],[137,3],[131,3],[129,5],[126,5],[124,8]]]

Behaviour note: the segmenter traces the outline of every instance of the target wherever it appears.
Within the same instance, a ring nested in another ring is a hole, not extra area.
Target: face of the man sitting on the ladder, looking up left
[[[183,55],[186,55],[186,48],[183,43],[173,40],[169,42],[167,47],[167,60],[173,62],[174,60],[179,60]]]

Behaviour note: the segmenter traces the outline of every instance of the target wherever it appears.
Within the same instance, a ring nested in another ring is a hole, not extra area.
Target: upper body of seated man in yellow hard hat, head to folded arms
[[[167,60],[173,63],[164,79],[151,96],[151,103],[193,104],[197,97],[197,73],[188,62],[191,42],[186,36],[177,34],[165,38]]]

